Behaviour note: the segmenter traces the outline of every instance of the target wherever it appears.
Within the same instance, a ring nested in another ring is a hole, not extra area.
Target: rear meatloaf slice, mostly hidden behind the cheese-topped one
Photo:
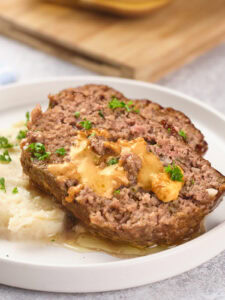
[[[102,100],[116,96],[120,100],[128,101],[122,93],[104,85],[89,84],[74,90],[78,90],[86,96],[93,95]],[[184,142],[188,143],[199,154],[203,155],[207,151],[208,145],[204,140],[203,134],[184,113],[171,107],[164,108],[150,100],[138,100],[138,102],[134,101],[134,103],[138,106],[143,118],[150,118],[160,122],[169,131],[180,134]]]

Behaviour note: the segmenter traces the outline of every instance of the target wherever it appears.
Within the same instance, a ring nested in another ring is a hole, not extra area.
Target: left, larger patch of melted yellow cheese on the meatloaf
[[[48,170],[60,181],[77,179],[80,184],[107,198],[111,197],[115,189],[129,183],[125,170],[119,164],[105,168],[95,164],[99,156],[92,151],[88,138],[81,134],[76,145],[71,147],[70,159],[68,163],[49,165]],[[74,189],[69,189],[68,202],[75,195]]]

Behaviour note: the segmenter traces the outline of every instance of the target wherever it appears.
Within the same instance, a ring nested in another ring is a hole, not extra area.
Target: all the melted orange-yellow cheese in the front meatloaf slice
[[[94,130],[93,132],[108,137],[107,132],[105,133],[103,130]],[[137,178],[139,187],[146,191],[154,192],[158,199],[164,202],[177,199],[183,182],[170,179],[159,158],[148,152],[147,143],[143,138],[137,138],[132,141],[106,141],[104,145],[114,151],[116,155],[131,153],[139,157],[142,163]],[[129,185],[128,174],[123,168],[121,161],[118,164],[101,168],[98,165],[100,159],[101,157],[91,149],[90,140],[86,133],[80,132],[76,139],[76,144],[71,147],[70,161],[48,166],[50,173],[55,175],[59,181],[67,179],[78,180],[79,185],[69,189],[68,197],[66,198],[67,202],[72,202],[75,195],[84,186],[91,188],[100,196],[110,198],[113,192],[121,185]]]

